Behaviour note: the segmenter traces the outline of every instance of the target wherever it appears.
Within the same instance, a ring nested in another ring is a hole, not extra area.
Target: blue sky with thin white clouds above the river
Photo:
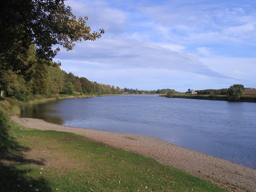
[[[256,88],[256,1],[68,0],[102,38],[61,48],[78,77],[120,88]]]

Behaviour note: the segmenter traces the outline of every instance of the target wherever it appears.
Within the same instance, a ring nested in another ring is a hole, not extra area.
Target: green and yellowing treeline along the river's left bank
[[[78,77],[60,69],[60,64],[46,64],[36,56],[35,47],[30,46],[26,61],[26,74],[17,74],[7,70],[2,74],[5,81],[1,90],[5,96],[18,100],[30,100],[36,94],[52,96],[52,94],[119,94],[120,88],[106,84],[91,82],[85,77]]]

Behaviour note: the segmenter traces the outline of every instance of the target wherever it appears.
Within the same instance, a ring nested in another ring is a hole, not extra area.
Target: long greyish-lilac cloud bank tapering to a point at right
[[[102,38],[95,42],[85,42],[84,44],[78,44],[72,52],[60,52],[58,57],[123,66],[163,68],[228,78],[223,74],[210,70],[193,55],[125,38]]]

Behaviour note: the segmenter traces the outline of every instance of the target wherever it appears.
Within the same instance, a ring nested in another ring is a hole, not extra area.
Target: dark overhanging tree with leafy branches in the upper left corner
[[[29,70],[26,60],[31,44],[37,57],[50,65],[60,50],[54,45],[72,50],[75,42],[96,40],[104,33],[91,32],[88,18],[77,19],[64,0],[2,0],[0,12],[0,89],[6,71],[24,75]]]

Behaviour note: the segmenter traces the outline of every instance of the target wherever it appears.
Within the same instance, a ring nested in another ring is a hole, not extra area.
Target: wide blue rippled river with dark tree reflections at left
[[[256,103],[103,96],[26,106],[21,117],[152,136],[256,169]]]

